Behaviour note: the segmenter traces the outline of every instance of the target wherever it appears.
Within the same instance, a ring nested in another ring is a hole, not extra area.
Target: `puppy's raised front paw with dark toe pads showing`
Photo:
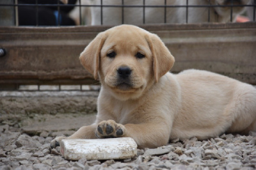
[[[99,138],[104,137],[122,137],[125,134],[125,127],[113,120],[101,121],[95,134]]]

